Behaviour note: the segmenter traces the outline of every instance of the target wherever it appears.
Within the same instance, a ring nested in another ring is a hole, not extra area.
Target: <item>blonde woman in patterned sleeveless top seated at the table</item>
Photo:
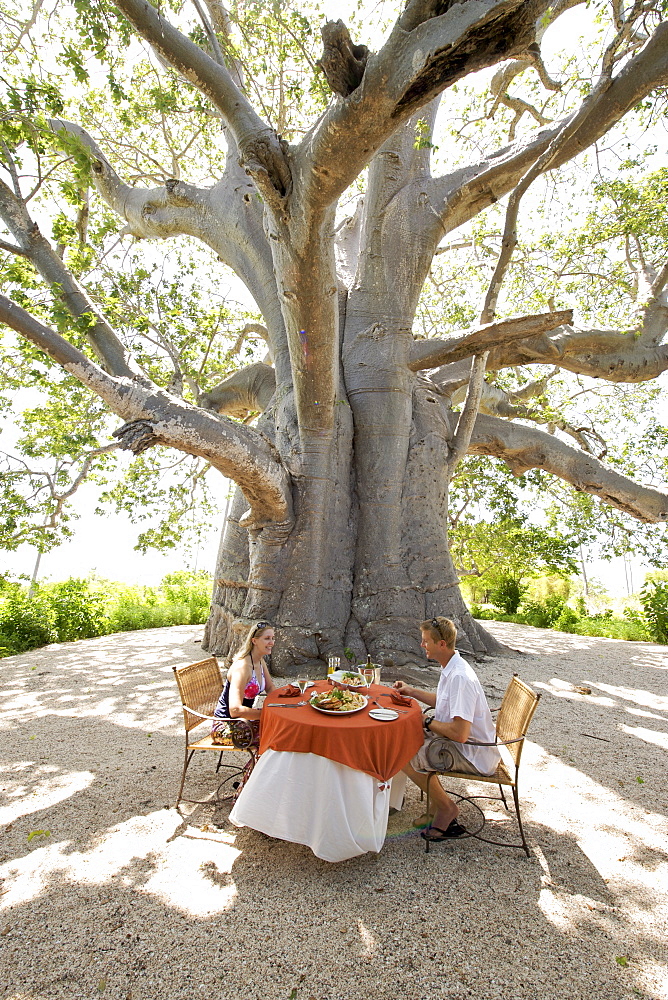
[[[269,694],[275,684],[269,673],[265,657],[274,648],[274,627],[271,622],[256,622],[238,650],[229,670],[227,680],[213,713],[218,719],[246,719],[255,722],[261,709],[253,708],[259,694]],[[213,733],[224,732],[227,727],[213,724]]]

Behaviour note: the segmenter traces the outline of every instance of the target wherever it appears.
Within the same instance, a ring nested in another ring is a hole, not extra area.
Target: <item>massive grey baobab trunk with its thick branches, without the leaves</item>
[[[270,619],[279,632],[279,670],[347,647],[401,662],[420,657],[415,623],[435,614],[456,621],[465,647],[493,650],[460,596],[448,551],[448,484],[467,454],[494,456],[518,475],[543,469],[640,521],[668,519],[665,493],[606,466],[587,435],[566,423],[565,433],[541,429],[526,405],[544,389],[541,366],[613,383],[648,381],[668,367],[665,260],[638,267],[637,322],[628,329],[584,328],[568,308],[497,317],[533,182],[668,84],[662,5],[613,3],[579,104],[546,123],[512,97],[513,81],[528,71],[548,92],[558,89],[540,42],[574,6],[407,0],[377,51],[351,39],[341,21],[327,22],[314,72],[324,74],[331,99],[288,141],[249,96],[243,41],[219,0],[193,0],[171,20],[145,0],[91,4],[100,38],[100,25],[110,30],[120,16],[115,30],[126,43],[133,35],[148,43],[161,66],[203,95],[220,126],[224,165],[208,185],[190,183],[180,170],[158,186],[129,183],[100,137],[72,115],[47,109],[40,131],[41,142],[48,133],[77,161],[77,183],[85,186],[85,175],[124,233],[193,237],[248,289],[267,358],[205,390],[178,378],[159,384],[133,357],[31,215],[17,167],[26,133],[17,133],[13,147],[5,135],[0,211],[10,236],[3,249],[27,259],[52,289],[72,336],[66,322],[61,332],[42,322],[25,298],[3,297],[0,320],[122,418],[115,432],[122,447],[139,453],[164,445],[201,456],[237,485],[206,629],[213,652],[229,652],[249,621]],[[495,106],[515,116],[510,141],[459,162],[450,139],[449,165],[433,171],[439,109],[453,85],[488,67],[497,67]],[[527,110],[533,127],[526,116],[518,127]],[[25,115],[15,118],[25,123]],[[362,177],[346,213],[341,199]],[[506,196],[478,320],[421,337],[416,310],[442,241]],[[80,225],[84,216],[81,206]],[[512,394],[494,373],[517,366],[539,366],[540,377]]]

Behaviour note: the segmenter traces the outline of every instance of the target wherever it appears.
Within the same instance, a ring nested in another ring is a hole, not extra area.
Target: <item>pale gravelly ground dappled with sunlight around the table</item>
[[[379,855],[338,865],[179,815],[171,668],[196,627],[0,661],[2,998],[668,1000],[668,649],[487,624],[526,654],[478,666],[490,701],[513,671],[542,693],[528,859],[425,855],[416,790]]]

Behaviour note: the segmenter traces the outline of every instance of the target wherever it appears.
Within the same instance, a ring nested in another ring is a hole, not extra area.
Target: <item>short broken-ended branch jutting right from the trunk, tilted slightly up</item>
[[[536,316],[513,316],[498,320],[473,330],[453,333],[447,340],[416,340],[411,348],[408,367],[414,372],[437,368],[515,340],[535,337],[538,333],[570,323],[572,319],[573,310],[562,309]]]

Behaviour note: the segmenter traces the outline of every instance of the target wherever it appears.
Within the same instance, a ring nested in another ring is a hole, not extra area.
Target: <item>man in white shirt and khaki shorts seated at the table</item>
[[[439,768],[465,771],[470,774],[493,774],[501,755],[495,746],[474,746],[467,743],[494,743],[496,729],[485,692],[472,667],[455,650],[457,629],[449,618],[430,618],[420,625],[422,648],[428,660],[441,666],[436,692],[411,687],[405,681],[395,681],[401,694],[417,698],[435,708],[434,718],[426,723],[428,737],[424,746],[404,768],[405,773],[422,791],[427,790],[430,766],[429,748],[438,750]],[[434,738],[439,737],[435,743]],[[438,778],[432,780],[429,794],[436,806],[430,826],[420,836],[437,842],[462,837],[466,827],[457,822],[457,804],[443,790]]]

